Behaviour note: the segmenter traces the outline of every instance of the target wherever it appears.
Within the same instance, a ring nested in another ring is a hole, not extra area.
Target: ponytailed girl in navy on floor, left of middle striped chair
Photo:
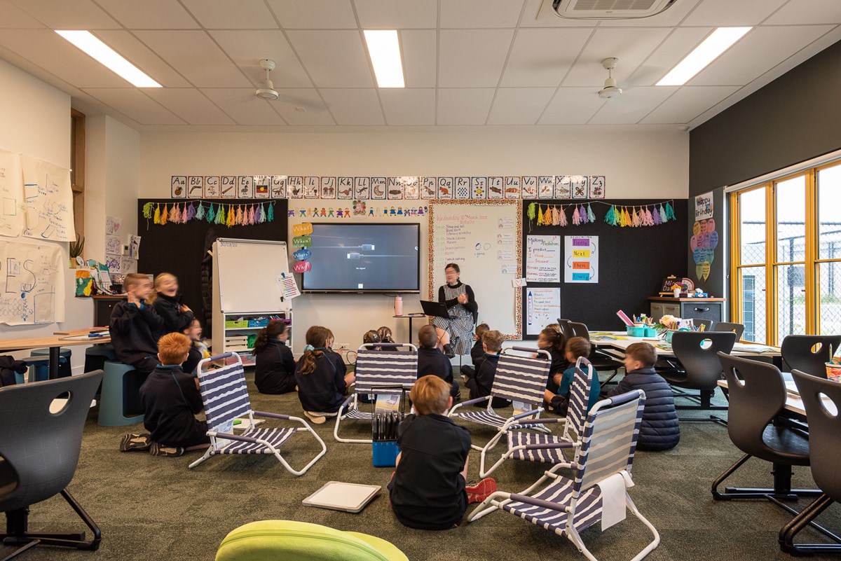
[[[345,401],[347,386],[356,380],[352,373],[342,375],[335,360],[331,359],[331,351],[327,349],[330,336],[330,329],[320,325],[307,329],[304,356],[299,359],[295,370],[295,383],[304,415],[318,425],[327,420],[325,417],[336,417],[342,401]]]

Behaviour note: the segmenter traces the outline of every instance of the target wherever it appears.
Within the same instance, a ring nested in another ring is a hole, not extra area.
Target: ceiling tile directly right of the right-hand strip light
[[[833,25],[759,27],[713,60],[688,83],[690,86],[743,86],[762,76]]]

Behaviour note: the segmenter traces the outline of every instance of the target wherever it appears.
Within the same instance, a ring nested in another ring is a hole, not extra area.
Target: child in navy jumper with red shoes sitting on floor
[[[470,432],[444,417],[452,406],[449,393],[450,385],[441,378],[422,377],[410,393],[417,414],[400,422],[400,454],[389,493],[394,516],[408,527],[457,527],[469,503],[484,501],[496,490],[491,478],[467,486]]]

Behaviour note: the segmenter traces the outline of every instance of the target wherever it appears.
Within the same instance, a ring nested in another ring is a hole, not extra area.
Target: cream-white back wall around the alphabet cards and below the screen
[[[161,132],[140,136],[140,198],[170,197],[170,176],[174,175],[254,174],[590,174],[606,176],[607,197],[685,199],[689,192],[689,135],[664,130],[553,128],[393,133]],[[290,207],[299,206],[304,206],[304,201],[290,202]],[[290,224],[296,222],[300,220],[290,220]],[[421,247],[426,249],[426,218],[419,222]],[[289,236],[291,239],[291,232]],[[426,286],[426,260],[424,251],[421,287]],[[473,273],[464,281],[480,282],[478,277]],[[417,300],[405,297],[405,312],[420,311]],[[331,328],[336,343],[348,343],[352,348],[362,342],[362,333],[380,325],[391,326],[397,338],[405,340],[408,323],[393,319],[393,313],[387,296],[300,296],[294,302],[295,350],[301,350],[306,328],[315,324]],[[417,321],[413,327],[416,338],[420,327]]]

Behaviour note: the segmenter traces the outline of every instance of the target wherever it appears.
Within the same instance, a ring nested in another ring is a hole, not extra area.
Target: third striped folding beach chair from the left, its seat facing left
[[[513,354],[515,352],[526,353],[527,356]],[[545,359],[534,358],[534,355],[545,355]],[[500,442],[505,434],[511,431],[533,428],[542,433],[548,433],[548,429],[540,422],[535,422],[543,411],[543,390],[546,388],[546,380],[549,376],[552,356],[545,350],[529,349],[528,347],[511,347],[503,349],[500,354],[500,362],[496,366],[494,385],[491,386],[490,395],[477,397],[476,399],[463,401],[452,407],[447,417],[458,417],[465,421],[478,422],[482,425],[496,427],[497,433],[487,444],[478,446],[471,444],[474,450],[479,450],[481,460],[479,464],[479,477],[487,477],[500,462],[494,464],[491,469],[485,471],[485,455]],[[501,397],[505,400],[521,401],[526,404],[526,412],[519,413],[512,417],[500,417],[493,408],[493,398]],[[484,411],[458,412],[458,408],[466,405],[474,405],[488,401],[488,407]]]

